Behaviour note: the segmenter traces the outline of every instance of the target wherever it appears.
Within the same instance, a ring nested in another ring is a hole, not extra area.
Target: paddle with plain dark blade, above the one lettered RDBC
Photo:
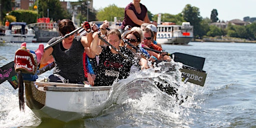
[[[146,50],[154,51],[156,53],[161,53],[162,52],[162,51],[151,49],[151,48],[148,48],[148,47],[143,47],[143,48],[146,49]],[[185,54],[185,53],[180,53],[180,52],[175,52],[175,53],[171,53],[171,54],[168,53],[167,55],[169,55],[171,57],[172,57],[172,55],[174,55],[174,61],[181,62],[185,65],[194,67],[198,70],[202,70],[204,60],[205,60],[205,58],[203,58],[203,57],[190,55],[190,54]]]

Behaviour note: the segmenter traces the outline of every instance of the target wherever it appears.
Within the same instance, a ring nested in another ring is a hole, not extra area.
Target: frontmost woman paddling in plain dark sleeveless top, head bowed
[[[90,33],[88,22],[84,22],[82,27],[88,33],[86,36],[75,36],[72,34],[44,51],[40,63],[46,63],[52,56],[55,62],[53,74],[49,76],[49,81],[64,82],[68,80],[69,83],[83,84],[84,80],[86,80],[82,62],[83,52],[84,47],[90,46],[92,34]],[[58,28],[61,36],[53,37],[46,46],[75,30],[73,22],[69,19],[60,20]]]

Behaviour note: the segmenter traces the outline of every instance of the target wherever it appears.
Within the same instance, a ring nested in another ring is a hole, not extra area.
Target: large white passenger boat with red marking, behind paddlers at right
[[[193,26],[189,22],[182,22],[182,25],[168,22],[157,25],[157,43],[187,44],[192,38]]]

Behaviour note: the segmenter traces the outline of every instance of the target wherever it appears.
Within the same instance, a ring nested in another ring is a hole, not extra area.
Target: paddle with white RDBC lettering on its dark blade
[[[125,43],[127,43],[128,45],[130,45],[132,48],[134,48],[135,50],[141,52],[141,50],[139,48],[137,48],[136,46],[132,45],[129,41],[126,41],[126,40],[123,40]],[[143,47],[145,48],[145,47]],[[157,50],[158,51],[158,50]],[[173,53],[172,53],[173,54]],[[182,53],[181,53],[182,54]],[[143,54],[143,55],[146,55],[146,54]],[[186,54],[186,55],[189,55],[189,54]],[[194,56],[194,55],[192,55]],[[176,57],[176,56],[175,56]],[[197,57],[197,56],[196,56]],[[181,59],[182,60],[182,59]],[[174,59],[174,61],[176,61]],[[180,62],[180,61],[178,61]],[[183,68],[180,69],[180,71],[182,72],[182,81],[183,82],[191,82],[191,83],[194,83],[194,84],[197,84],[197,85],[200,85],[200,86],[203,86],[204,85],[204,82],[205,82],[205,78],[206,78],[206,73],[205,71],[203,70],[198,70],[194,67],[189,67],[189,66],[186,66],[186,65],[183,65],[182,66]]]

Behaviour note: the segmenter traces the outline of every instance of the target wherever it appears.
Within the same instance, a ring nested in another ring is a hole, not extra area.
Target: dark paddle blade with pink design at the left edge
[[[13,75],[16,75],[16,72],[14,70],[14,62],[13,61],[0,67],[0,83],[11,78]]]

